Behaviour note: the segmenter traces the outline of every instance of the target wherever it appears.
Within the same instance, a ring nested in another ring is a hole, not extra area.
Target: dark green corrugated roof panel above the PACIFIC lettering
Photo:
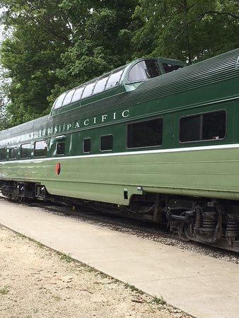
[[[192,66],[167,73],[142,83],[136,90],[98,100],[67,112],[67,120],[82,119],[96,114],[103,114],[130,107],[141,102],[163,98],[168,95],[211,85],[220,81],[227,81],[239,76],[238,65],[239,49],[221,54]],[[239,93],[239,91],[238,91]],[[62,122],[66,114],[54,117],[54,123]]]

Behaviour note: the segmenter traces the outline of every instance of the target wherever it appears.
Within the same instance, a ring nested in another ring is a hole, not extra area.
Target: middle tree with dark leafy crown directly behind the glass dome
[[[71,17],[74,35],[72,45],[62,54],[64,66],[57,69],[57,76],[65,86],[55,86],[48,98],[51,103],[62,91],[132,59],[135,30],[132,14],[137,3],[137,0],[91,1],[83,13],[84,22],[83,18],[76,19],[72,15],[79,11],[78,1],[65,0],[62,3],[62,8]]]

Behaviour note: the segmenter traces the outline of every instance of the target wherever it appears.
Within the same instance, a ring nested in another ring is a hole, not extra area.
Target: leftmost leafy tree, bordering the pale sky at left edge
[[[47,96],[56,83],[61,84],[56,69],[70,45],[71,29],[59,2],[1,1],[5,7],[1,21],[11,30],[1,44],[1,64],[11,79],[7,92],[11,126],[42,116],[49,106]]]

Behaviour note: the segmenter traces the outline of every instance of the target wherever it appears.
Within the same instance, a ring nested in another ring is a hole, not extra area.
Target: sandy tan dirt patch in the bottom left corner
[[[189,317],[0,227],[0,317]]]

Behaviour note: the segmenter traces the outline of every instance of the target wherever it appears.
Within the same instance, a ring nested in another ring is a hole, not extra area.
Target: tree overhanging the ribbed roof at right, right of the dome
[[[139,0],[134,18],[136,56],[192,63],[239,46],[237,0]]]

